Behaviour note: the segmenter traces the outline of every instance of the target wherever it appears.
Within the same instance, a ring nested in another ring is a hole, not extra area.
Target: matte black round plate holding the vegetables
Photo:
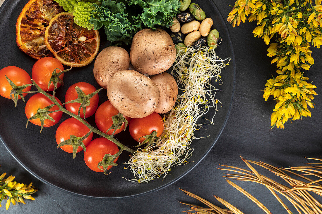
[[[24,54],[16,45],[15,24],[27,0],[7,0],[0,10],[0,68],[6,66],[17,66],[23,68],[31,76],[31,69],[36,60]],[[129,153],[122,153],[118,159],[118,166],[112,168],[112,173],[105,176],[103,173],[91,171],[84,163],[83,152],[77,154],[73,159],[70,153],[56,149],[55,131],[58,125],[68,117],[63,115],[60,122],[50,128],[44,128],[39,134],[40,127],[32,123],[26,128],[26,116],[24,113],[25,103],[21,100],[14,108],[12,100],[0,97],[0,141],[2,141],[14,158],[36,178],[55,186],[64,191],[96,198],[121,198],[134,196],[161,189],[187,174],[194,168],[204,156],[211,150],[228,119],[232,106],[235,85],[235,57],[232,40],[228,32],[226,21],[223,19],[218,8],[211,0],[193,1],[204,9],[207,17],[213,19],[213,28],[220,32],[222,42],[216,49],[221,58],[232,58],[226,70],[222,72],[223,85],[216,84],[216,98],[222,102],[215,116],[215,125],[205,126],[200,129],[198,136],[209,136],[194,140],[192,147],[193,155],[189,163],[183,166],[173,167],[171,174],[165,179],[155,179],[149,183],[128,182],[125,178],[133,178],[129,169],[123,168],[123,163],[128,160]],[[100,50],[106,47],[105,36],[101,33]],[[93,77],[93,64],[86,67],[73,68],[64,76],[64,86],[57,91],[57,97],[63,101],[64,94],[69,86],[77,82],[88,82],[97,89],[99,85]],[[67,68],[67,67],[65,67]],[[27,95],[28,99],[31,95]],[[99,93],[99,104],[107,100],[104,92]],[[208,113],[212,118],[214,110]],[[93,116],[88,121],[95,125]],[[95,136],[93,138],[97,138]],[[118,134],[119,140],[129,146],[135,145],[129,133]],[[2,160],[3,161],[3,160]]]

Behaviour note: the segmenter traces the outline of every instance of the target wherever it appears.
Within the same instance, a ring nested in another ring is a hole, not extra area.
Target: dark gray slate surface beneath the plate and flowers
[[[225,16],[231,9],[227,4],[233,4],[234,1],[215,0],[215,3]],[[264,102],[261,90],[276,67],[266,57],[268,46],[261,39],[253,37],[252,30],[255,27],[256,23],[248,22],[238,28],[229,26],[237,61],[232,112],[213,150],[184,178],[158,192],[135,198],[114,201],[80,198],[37,181],[0,144],[0,172],[16,176],[18,182],[33,181],[40,189],[34,195],[36,200],[26,200],[26,205],[11,206],[5,210],[5,203],[2,202],[0,213],[181,213],[187,207],[177,201],[197,202],[178,187],[218,205],[213,194],[231,202],[245,213],[263,213],[252,201],[232,188],[222,177],[223,172],[216,167],[218,164],[245,167],[240,155],[285,167],[301,165],[306,161],[304,157],[321,156],[322,95],[316,96],[314,100],[316,108],[311,111],[311,118],[287,123],[286,129],[270,130],[270,111],[275,102]],[[318,76],[321,74],[322,51],[313,49],[313,58],[315,64],[305,75],[317,85],[317,94],[321,94],[322,81]],[[265,187],[254,183],[236,183],[252,193],[273,213],[286,213]]]

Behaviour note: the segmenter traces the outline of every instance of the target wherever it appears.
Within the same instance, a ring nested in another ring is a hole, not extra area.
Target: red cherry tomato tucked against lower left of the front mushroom
[[[97,125],[97,128],[101,130],[102,132],[106,133],[106,131],[111,127],[113,124],[112,116],[118,115],[118,110],[112,106],[112,104],[108,101],[105,101],[103,104],[99,106],[99,108],[96,110],[95,113],[95,123]],[[123,115],[124,116],[124,115]],[[128,122],[131,120],[131,118],[124,116]],[[115,131],[115,134],[120,133],[125,128],[125,122],[122,124],[120,129],[117,129]],[[113,133],[114,129],[111,129],[107,132],[108,135],[111,135]]]

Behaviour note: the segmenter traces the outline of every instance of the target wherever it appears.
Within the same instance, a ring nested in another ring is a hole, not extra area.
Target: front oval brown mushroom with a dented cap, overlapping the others
[[[118,71],[109,80],[109,102],[131,118],[146,117],[157,108],[158,86],[148,77],[133,70]]]

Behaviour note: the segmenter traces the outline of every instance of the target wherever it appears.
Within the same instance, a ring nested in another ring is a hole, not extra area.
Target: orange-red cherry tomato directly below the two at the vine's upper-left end
[[[59,104],[62,104],[62,102],[60,102],[60,100],[57,97],[55,97],[55,99],[58,101]],[[43,109],[51,104],[54,104],[54,103],[50,99],[48,99],[45,95],[40,93],[34,94],[32,97],[29,98],[29,100],[26,103],[25,113],[27,118],[29,119],[33,115],[35,115],[39,108]],[[59,109],[58,106],[55,105],[50,109],[50,111],[54,111],[58,109]],[[51,116],[55,121],[46,119],[44,121],[44,125],[43,125],[44,127],[53,126],[56,123],[58,123],[58,121],[62,118],[62,111],[50,113],[49,116]],[[30,122],[38,126],[41,125],[40,119],[33,119],[33,120],[30,120]]]

